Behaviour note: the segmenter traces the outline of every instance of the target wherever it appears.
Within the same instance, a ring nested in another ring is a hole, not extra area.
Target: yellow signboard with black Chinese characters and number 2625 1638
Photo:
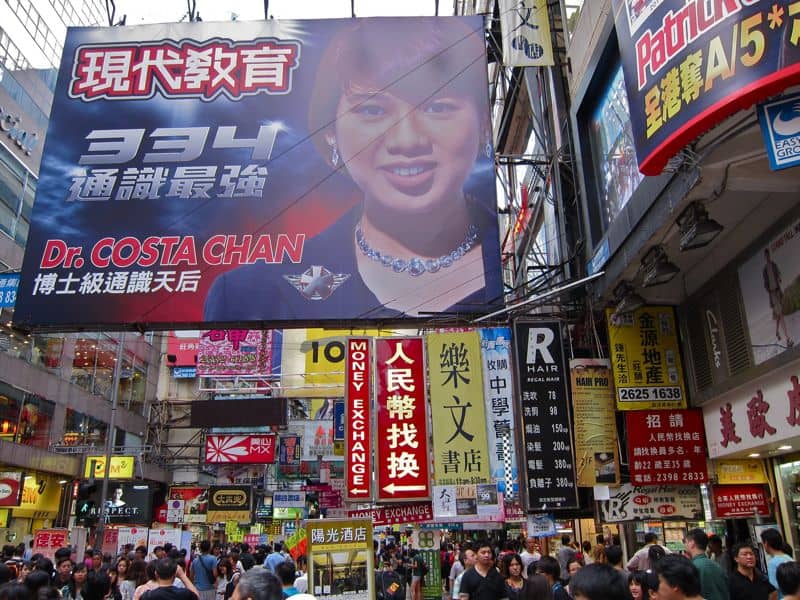
[[[613,314],[606,311],[617,409],[685,408],[675,309],[645,306]]]

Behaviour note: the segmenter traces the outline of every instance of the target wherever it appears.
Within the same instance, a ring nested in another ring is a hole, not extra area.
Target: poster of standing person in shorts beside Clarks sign
[[[800,219],[739,267],[753,361],[759,365],[800,339]]]

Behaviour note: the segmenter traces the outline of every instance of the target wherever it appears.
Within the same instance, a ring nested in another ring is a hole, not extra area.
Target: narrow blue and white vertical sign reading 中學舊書
[[[507,499],[518,498],[519,470],[514,435],[516,428],[511,374],[511,329],[485,327],[478,331],[483,360],[489,469],[500,493]]]

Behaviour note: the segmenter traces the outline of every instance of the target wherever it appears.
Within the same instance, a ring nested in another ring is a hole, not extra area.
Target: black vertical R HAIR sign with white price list
[[[528,511],[577,505],[559,321],[514,324]]]

